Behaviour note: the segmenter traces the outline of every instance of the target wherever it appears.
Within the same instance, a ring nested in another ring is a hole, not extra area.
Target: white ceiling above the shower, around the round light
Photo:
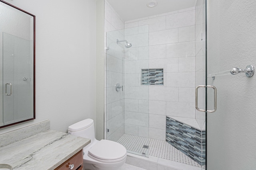
[[[154,16],[191,8],[196,6],[196,0],[155,0],[158,4],[148,8],[150,0],[107,0],[124,21],[135,20],[147,16]]]

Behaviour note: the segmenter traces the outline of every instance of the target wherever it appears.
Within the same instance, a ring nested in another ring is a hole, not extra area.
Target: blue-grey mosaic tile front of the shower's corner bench
[[[166,141],[200,165],[205,165],[205,131],[166,117]]]

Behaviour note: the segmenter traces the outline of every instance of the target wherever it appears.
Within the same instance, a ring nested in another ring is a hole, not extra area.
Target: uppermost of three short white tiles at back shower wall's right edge
[[[195,25],[180,27],[179,29],[179,42],[195,41]]]

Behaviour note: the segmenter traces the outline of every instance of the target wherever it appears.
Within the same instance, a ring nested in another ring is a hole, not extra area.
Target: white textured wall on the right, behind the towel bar
[[[208,74],[256,66],[255,9],[253,0],[208,0]],[[255,169],[256,76],[226,75],[208,84],[218,90],[218,109],[207,115],[207,169]]]

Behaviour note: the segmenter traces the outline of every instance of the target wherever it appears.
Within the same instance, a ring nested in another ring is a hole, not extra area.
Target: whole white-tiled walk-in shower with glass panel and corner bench
[[[206,84],[205,15],[205,1],[198,1],[106,33],[106,139],[133,154],[179,162],[174,147],[205,165],[206,115],[195,108],[195,88]],[[205,91],[198,89],[202,109]]]

